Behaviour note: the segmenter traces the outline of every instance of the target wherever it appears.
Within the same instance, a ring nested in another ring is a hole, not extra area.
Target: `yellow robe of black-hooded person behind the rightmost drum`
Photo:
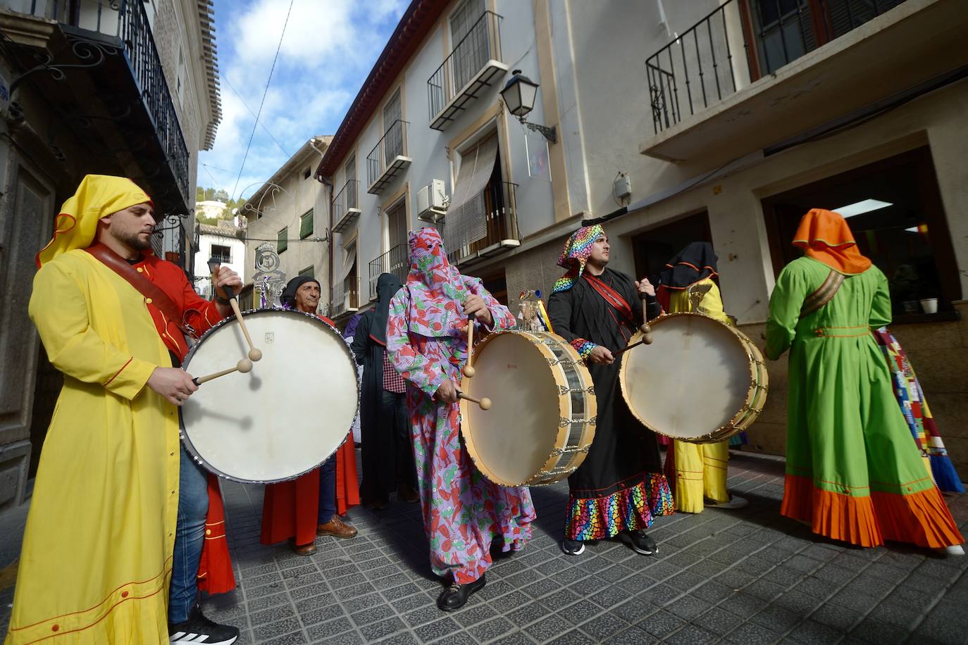
[[[704,279],[697,284],[710,284],[711,289],[703,296],[699,308],[703,313],[727,325],[732,324],[726,312],[723,311],[723,301],[719,296],[719,287],[711,279]],[[669,313],[692,311],[687,290],[670,291]],[[703,498],[715,502],[728,502],[729,492],[726,490],[726,466],[729,461],[729,441],[716,444],[690,444],[676,441],[676,510],[682,513],[700,513],[703,510]]]

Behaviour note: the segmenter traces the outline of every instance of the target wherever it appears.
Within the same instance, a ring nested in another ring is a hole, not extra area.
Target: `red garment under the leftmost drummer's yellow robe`
[[[184,322],[201,336],[205,331],[222,320],[222,314],[215,303],[204,300],[199,296],[185,276],[185,272],[177,265],[160,260],[150,253],[144,254],[135,269],[145,278],[153,282],[164,291],[175,307],[183,312]],[[168,320],[165,314],[152,304],[146,305],[158,335],[162,337],[166,347],[178,357],[185,360],[188,354],[188,343],[177,325]],[[210,594],[222,594],[235,588],[235,576],[232,574],[231,558],[228,555],[226,541],[226,516],[222,504],[222,493],[219,490],[219,478],[208,475],[208,515],[205,517],[205,541],[201,550],[201,562],[198,565],[198,589]]]

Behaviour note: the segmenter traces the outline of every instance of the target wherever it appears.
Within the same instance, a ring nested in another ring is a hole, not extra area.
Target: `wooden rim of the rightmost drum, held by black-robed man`
[[[747,424],[737,425],[737,421],[741,419],[742,415],[748,409],[751,409],[749,405],[750,398],[751,396],[753,396],[753,393],[755,393],[757,389],[762,389],[764,391],[763,405],[766,406],[767,395],[769,394],[770,389],[769,389],[769,375],[766,368],[766,361],[763,358],[763,353],[760,351],[760,348],[757,347],[756,344],[748,336],[743,334],[739,329],[737,329],[733,325],[727,325],[726,323],[720,320],[716,320],[715,318],[708,316],[705,313],[700,313],[698,311],[676,311],[675,313],[663,312],[655,316],[654,318],[652,318],[649,321],[649,324],[654,325],[666,318],[675,318],[677,316],[701,316],[703,318],[708,318],[712,322],[725,327],[730,332],[732,337],[736,338],[736,340],[739,341],[740,346],[742,350],[746,353],[746,356],[749,361],[747,364],[747,369],[749,372],[749,385],[746,388],[746,396],[744,396],[744,402],[742,407],[730,418],[730,420],[726,424],[720,425],[719,427],[712,429],[710,432],[699,435],[698,437],[683,438],[680,436],[669,434],[656,427],[653,427],[652,425],[646,423],[645,419],[642,418],[642,416],[638,413],[638,411],[632,406],[632,404],[628,400],[629,394],[628,394],[628,389],[625,385],[627,380],[625,378],[625,374],[626,374],[627,365],[628,365],[628,362],[626,361],[626,358],[628,357],[628,352],[624,352],[620,359],[621,366],[619,367],[619,386],[621,390],[621,397],[625,401],[625,405],[628,407],[629,412],[632,413],[632,416],[635,417],[640,424],[645,425],[648,429],[650,429],[652,432],[655,432],[656,434],[661,434],[664,437],[675,439],[676,441],[684,441],[686,443],[702,444],[702,443],[718,443],[719,441],[726,441],[731,436],[735,434],[739,434],[745,428],[749,427],[750,425],[753,425],[753,422],[755,422],[756,419],[760,416],[760,413],[763,412],[763,407],[761,407],[760,410],[756,412],[756,414],[754,414],[749,419],[749,422]],[[634,339],[640,335],[641,335],[641,332],[638,332],[636,335],[634,335],[629,339],[629,342],[634,341]],[[757,369],[758,365],[761,366],[762,369],[758,370]],[[765,376],[762,384],[760,384],[757,381],[758,371],[762,371],[763,375]],[[724,430],[726,432],[724,432]],[[720,437],[720,435],[722,436]]]

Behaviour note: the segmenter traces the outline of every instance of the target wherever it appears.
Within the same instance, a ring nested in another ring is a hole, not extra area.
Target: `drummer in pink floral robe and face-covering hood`
[[[467,324],[477,330],[514,327],[514,316],[481,285],[447,262],[439,233],[410,233],[406,288],[390,301],[386,350],[408,381],[410,436],[431,569],[451,580],[438,598],[444,611],[462,607],[484,586],[491,542],[518,550],[531,535],[534,507],[527,487],[499,486],[474,467],[460,438],[456,402],[468,358]],[[497,546],[497,544],[496,544]]]

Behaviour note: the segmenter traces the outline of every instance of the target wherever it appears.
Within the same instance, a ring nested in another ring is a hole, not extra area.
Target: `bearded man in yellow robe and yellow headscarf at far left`
[[[198,332],[227,308],[202,301],[180,269],[150,254],[154,226],[154,204],[134,182],[88,175],[38,253],[30,317],[64,387],[27,516],[9,644],[168,642],[176,406],[197,387],[171,366],[184,355],[178,323],[94,249],[154,276]],[[223,268],[216,283],[241,281]]]

